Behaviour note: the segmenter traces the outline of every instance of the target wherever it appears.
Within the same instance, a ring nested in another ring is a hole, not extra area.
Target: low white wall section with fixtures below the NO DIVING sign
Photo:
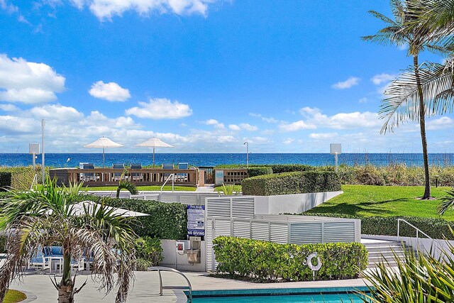
[[[178,241],[184,242],[184,249],[189,249],[189,241]],[[161,266],[167,268],[175,268],[176,270],[186,270],[192,272],[205,272],[206,271],[206,252],[205,252],[205,241],[201,241],[201,263],[189,263],[187,261],[187,255],[182,253],[177,253],[175,248],[177,241],[176,240],[161,240],[162,247],[162,262]]]

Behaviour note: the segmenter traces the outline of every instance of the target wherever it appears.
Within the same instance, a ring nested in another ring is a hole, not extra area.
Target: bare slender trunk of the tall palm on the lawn
[[[429,199],[431,197],[431,180],[428,172],[428,152],[427,152],[427,138],[426,138],[426,109],[424,108],[423,88],[421,85],[421,77],[419,76],[419,63],[418,56],[413,56],[414,75],[416,77],[416,85],[418,87],[419,95],[419,128],[421,131],[421,142],[423,145],[423,162],[424,162],[424,180],[425,188],[422,199]]]

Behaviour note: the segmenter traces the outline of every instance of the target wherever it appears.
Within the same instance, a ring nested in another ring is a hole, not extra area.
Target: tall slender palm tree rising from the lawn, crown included
[[[423,166],[425,189],[423,199],[431,197],[431,184],[428,171],[428,151],[426,138],[426,106],[424,104],[423,90],[421,86],[419,54],[424,50],[443,52],[445,49],[437,43],[445,37],[445,31],[431,30],[415,21],[415,11],[428,11],[431,9],[423,0],[391,0],[391,9],[394,20],[377,11],[370,11],[372,16],[386,23],[375,35],[362,37],[363,40],[380,43],[383,45],[395,44],[397,46],[408,45],[408,55],[413,57],[413,69],[418,102],[416,106],[409,106],[404,100],[384,99],[380,114],[386,119],[381,133],[392,131],[394,125],[406,118],[419,121],[421,143],[423,149]],[[411,23],[411,27],[409,24]],[[403,109],[404,108],[404,109]],[[404,114],[402,114],[404,113]]]

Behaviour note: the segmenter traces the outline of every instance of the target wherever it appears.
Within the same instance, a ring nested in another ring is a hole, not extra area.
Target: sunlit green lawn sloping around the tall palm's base
[[[441,197],[450,187],[432,187],[432,196]],[[419,200],[422,186],[343,185],[343,194],[308,212],[350,214],[353,216],[423,216],[438,217],[435,200]],[[454,211],[446,211],[443,219],[454,221]]]

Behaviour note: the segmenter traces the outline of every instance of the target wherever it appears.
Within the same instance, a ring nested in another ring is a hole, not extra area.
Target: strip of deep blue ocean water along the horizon
[[[433,153],[429,155],[431,165],[451,166],[454,164],[454,154]],[[102,153],[47,153],[45,165],[52,167],[78,167],[79,162],[91,162],[102,166]],[[113,163],[140,163],[151,165],[153,155],[150,153],[106,153],[106,167]],[[245,153],[157,153],[157,165],[189,162],[194,166],[215,166],[221,164],[244,164]],[[409,166],[422,166],[423,156],[419,153],[345,153],[339,155],[339,164],[345,165],[389,165],[405,163]],[[0,166],[31,165],[32,155],[24,153],[1,153]],[[38,155],[36,163],[41,163]],[[250,164],[306,164],[334,165],[334,156],[328,153],[250,153]]]

